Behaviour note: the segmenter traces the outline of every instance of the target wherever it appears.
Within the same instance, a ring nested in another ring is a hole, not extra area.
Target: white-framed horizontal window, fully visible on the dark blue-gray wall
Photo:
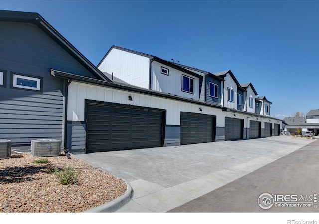
[[[12,87],[40,91],[41,78],[18,75],[13,73]]]

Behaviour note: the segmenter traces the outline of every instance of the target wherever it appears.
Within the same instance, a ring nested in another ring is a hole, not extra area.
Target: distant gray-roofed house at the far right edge
[[[315,135],[319,134],[319,109],[310,110],[305,117],[286,117],[284,118],[284,130],[291,134],[312,131]]]

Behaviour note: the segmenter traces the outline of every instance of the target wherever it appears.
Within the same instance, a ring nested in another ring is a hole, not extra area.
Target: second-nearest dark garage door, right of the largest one
[[[182,145],[215,140],[216,117],[198,113],[180,113],[180,141]]]

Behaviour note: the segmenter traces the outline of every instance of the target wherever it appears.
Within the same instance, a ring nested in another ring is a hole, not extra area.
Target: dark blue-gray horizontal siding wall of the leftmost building
[[[0,88],[0,138],[11,140],[12,148],[41,138],[62,140],[65,84],[50,69],[94,76],[35,25],[0,22],[0,30],[0,69],[6,71],[6,84]],[[12,73],[42,77],[42,90],[11,88]]]

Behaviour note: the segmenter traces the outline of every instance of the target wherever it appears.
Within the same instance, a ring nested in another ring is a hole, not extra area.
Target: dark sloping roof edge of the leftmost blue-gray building
[[[111,82],[104,74],[84,57],[69,41],[54,29],[41,15],[35,12],[20,12],[0,10],[0,22],[25,22],[38,26],[66,52],[75,58],[84,68],[90,71],[97,79]]]

